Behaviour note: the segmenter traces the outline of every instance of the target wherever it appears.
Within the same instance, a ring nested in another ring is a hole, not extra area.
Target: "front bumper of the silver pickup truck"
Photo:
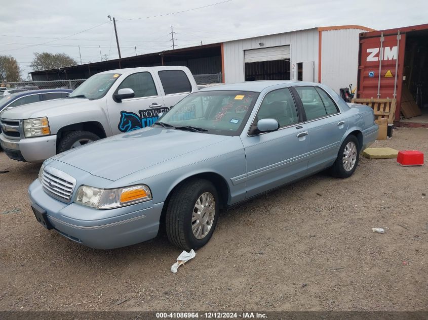
[[[56,134],[14,140],[0,133],[0,144],[9,158],[18,161],[43,162],[56,154]]]

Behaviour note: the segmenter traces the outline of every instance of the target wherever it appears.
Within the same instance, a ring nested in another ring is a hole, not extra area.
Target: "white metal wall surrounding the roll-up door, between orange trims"
[[[259,45],[260,42],[264,43],[263,47]],[[314,72],[316,76],[318,75],[318,29],[314,28],[224,42],[225,82],[245,81],[244,50],[277,47],[278,45],[290,45],[291,80],[297,79],[297,62],[314,61]]]

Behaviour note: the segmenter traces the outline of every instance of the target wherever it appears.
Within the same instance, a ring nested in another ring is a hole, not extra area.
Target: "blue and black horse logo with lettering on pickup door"
[[[130,111],[121,111],[121,119],[118,129],[121,132],[138,130],[152,125],[159,119],[161,112],[167,112],[168,108],[138,110],[138,114]]]

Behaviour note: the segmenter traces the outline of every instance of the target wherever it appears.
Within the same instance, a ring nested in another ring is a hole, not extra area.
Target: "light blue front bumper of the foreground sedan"
[[[164,205],[146,201],[98,210],[76,203],[66,204],[46,194],[38,180],[32,182],[28,193],[31,203],[46,211],[48,221],[59,234],[94,249],[126,247],[156,237]],[[100,218],[102,216],[108,217]]]

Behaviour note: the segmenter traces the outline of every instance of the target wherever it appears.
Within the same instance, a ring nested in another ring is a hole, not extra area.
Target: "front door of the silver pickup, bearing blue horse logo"
[[[124,88],[132,89],[134,97],[116,102],[113,95]],[[128,75],[113,95],[107,97],[108,117],[113,134],[149,126],[158,120],[160,112],[165,111],[161,88],[148,71]]]

